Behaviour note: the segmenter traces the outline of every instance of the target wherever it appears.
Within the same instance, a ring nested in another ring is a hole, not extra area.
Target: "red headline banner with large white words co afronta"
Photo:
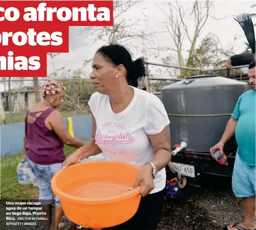
[[[112,26],[113,1],[0,1],[0,77],[45,77],[71,25]]]

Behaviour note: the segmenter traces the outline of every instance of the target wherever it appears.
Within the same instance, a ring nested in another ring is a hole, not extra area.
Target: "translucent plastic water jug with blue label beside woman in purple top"
[[[37,180],[28,166],[28,162],[22,159],[17,166],[18,183],[21,185],[33,184],[37,186]]]

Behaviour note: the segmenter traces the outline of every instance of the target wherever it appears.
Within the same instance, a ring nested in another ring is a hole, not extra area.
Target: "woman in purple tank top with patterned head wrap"
[[[31,171],[37,178],[39,199],[43,212],[47,213],[47,229],[63,228],[60,219],[63,215],[58,197],[55,197],[55,226],[52,224],[51,180],[65,160],[64,144],[80,148],[85,142],[72,137],[57,107],[63,100],[65,87],[54,80],[46,81],[41,89],[43,100],[30,109],[25,118],[25,152]]]

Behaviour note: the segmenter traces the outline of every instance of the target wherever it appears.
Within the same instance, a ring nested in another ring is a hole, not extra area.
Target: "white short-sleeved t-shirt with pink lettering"
[[[121,113],[114,113],[109,97],[101,93],[91,95],[88,102],[97,123],[96,144],[106,160],[130,163],[142,168],[154,157],[154,150],[147,136],[159,134],[170,123],[161,100],[154,94],[131,87],[134,97]],[[166,186],[166,169],[157,173],[155,189]]]

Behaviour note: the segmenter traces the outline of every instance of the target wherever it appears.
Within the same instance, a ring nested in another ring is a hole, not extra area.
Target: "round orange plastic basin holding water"
[[[72,222],[90,228],[112,227],[129,220],[138,209],[141,188],[128,190],[138,171],[121,162],[84,162],[57,172],[51,187]]]

